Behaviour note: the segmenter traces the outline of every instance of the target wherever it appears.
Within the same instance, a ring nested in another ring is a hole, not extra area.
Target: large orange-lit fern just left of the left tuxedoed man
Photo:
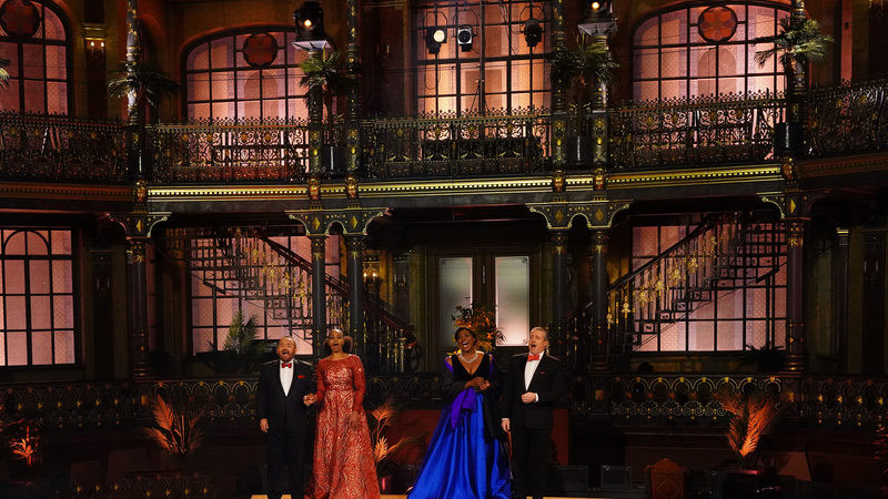
[[[142,434],[172,456],[189,457],[203,444],[203,410],[190,413],[155,397],[151,414],[158,428],[143,427]]]

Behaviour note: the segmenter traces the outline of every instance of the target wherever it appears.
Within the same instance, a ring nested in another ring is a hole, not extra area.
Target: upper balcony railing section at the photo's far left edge
[[[123,182],[124,132],[120,121],[0,112],[0,180]]]

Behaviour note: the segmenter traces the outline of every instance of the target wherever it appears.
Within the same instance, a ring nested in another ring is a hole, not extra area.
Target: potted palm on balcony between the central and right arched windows
[[[586,125],[586,106],[592,102],[592,93],[597,85],[608,85],[614,81],[614,71],[619,63],[610,59],[610,51],[602,42],[593,42],[586,35],[577,39],[574,48],[554,50],[548,55],[552,64],[549,79],[553,85],[568,86],[575,106],[574,133],[567,139],[567,161],[587,163],[589,138]]]

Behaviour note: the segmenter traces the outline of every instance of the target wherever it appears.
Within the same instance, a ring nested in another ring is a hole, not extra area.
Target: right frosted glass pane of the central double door
[[[531,332],[531,263],[527,256],[494,258],[496,324],[503,345],[526,345]]]

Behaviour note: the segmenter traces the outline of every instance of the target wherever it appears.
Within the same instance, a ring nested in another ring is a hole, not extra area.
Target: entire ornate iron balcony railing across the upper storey
[[[888,150],[888,81],[814,89],[806,154]],[[774,130],[783,95],[755,93],[627,103],[607,111],[610,165],[617,171],[693,169],[776,161]],[[331,134],[343,140],[342,123]],[[357,174],[427,179],[547,174],[548,110],[494,110],[361,121]],[[304,182],[309,124],[214,121],[148,129],[153,182]],[[67,116],[0,112],[0,180],[119,183],[127,180],[125,126]],[[585,167],[585,166],[583,166]]]

